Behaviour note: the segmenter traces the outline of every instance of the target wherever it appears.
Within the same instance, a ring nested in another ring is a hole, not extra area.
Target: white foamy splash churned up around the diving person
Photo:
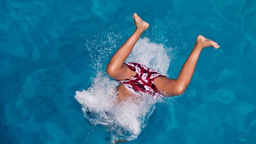
[[[109,41],[113,43],[113,41]],[[106,54],[104,50],[98,52]],[[87,47],[88,50],[90,49]],[[110,48],[113,49],[114,47]],[[104,47],[102,48],[104,49]],[[93,52],[90,52],[93,53]],[[110,53],[107,51],[107,53]],[[139,39],[127,62],[139,62],[167,75],[169,57],[162,44],[151,43],[148,38]],[[116,87],[119,82],[110,80],[106,73],[101,72],[103,62],[101,57],[92,61],[92,67],[97,68],[97,75],[92,79],[92,85],[83,91],[76,91],[75,98],[82,105],[84,116],[92,125],[103,125],[111,134],[112,140],[133,140],[146,127],[149,116],[155,110],[155,103],[161,99],[153,99],[143,95],[138,100],[116,102]]]

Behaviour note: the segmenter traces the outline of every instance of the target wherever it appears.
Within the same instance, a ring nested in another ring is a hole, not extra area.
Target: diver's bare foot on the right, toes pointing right
[[[196,45],[202,48],[212,46],[212,47],[215,47],[215,49],[218,49],[220,47],[219,44],[217,44],[215,41],[206,39],[201,35],[197,36]]]

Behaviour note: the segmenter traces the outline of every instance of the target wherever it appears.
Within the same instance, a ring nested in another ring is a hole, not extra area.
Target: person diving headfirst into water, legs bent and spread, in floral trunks
[[[194,48],[185,61],[178,78],[170,79],[140,63],[125,62],[140,35],[149,27],[149,24],[136,13],[133,14],[133,20],[136,30],[111,57],[106,69],[109,76],[120,82],[117,87],[117,95],[120,101],[143,94],[152,95],[154,98],[183,94],[191,81],[201,50],[210,46],[215,47],[215,49],[219,48],[219,44],[215,41],[206,39],[201,35],[197,36]]]

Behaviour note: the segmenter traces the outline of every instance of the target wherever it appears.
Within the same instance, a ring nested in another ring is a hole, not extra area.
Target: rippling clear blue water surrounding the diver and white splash
[[[151,25],[142,37],[172,47],[171,78],[198,34],[220,49],[203,50],[185,93],[127,143],[256,143],[255,0],[0,1],[1,143],[107,143],[74,95],[132,34],[133,12]]]

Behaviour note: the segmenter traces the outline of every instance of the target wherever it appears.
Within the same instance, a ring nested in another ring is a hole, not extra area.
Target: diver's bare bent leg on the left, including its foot
[[[117,50],[107,65],[107,73],[114,79],[127,79],[135,75],[135,72],[130,70],[123,63],[132,52],[140,35],[149,27],[149,24],[143,21],[136,13],[133,14],[133,20],[135,21],[136,30],[123,46]]]

